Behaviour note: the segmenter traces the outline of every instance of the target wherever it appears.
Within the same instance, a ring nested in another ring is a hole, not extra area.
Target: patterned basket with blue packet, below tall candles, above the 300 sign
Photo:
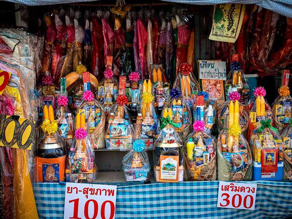
[[[251,150],[244,135],[237,136],[237,143],[232,144],[231,150],[227,150],[228,138],[233,142],[236,136],[229,135],[229,130],[222,130],[217,141],[217,175],[218,180],[236,181],[252,180]]]

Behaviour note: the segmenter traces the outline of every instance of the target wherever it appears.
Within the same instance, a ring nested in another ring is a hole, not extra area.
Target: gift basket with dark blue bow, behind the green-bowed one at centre
[[[169,117],[173,120],[175,131],[179,134],[182,140],[192,132],[192,116],[190,108],[182,96],[179,88],[172,88],[170,91],[170,98],[167,100],[163,107],[164,116],[168,112]]]

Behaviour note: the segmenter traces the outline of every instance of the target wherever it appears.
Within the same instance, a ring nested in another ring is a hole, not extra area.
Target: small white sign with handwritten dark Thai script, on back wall
[[[211,80],[226,80],[226,62],[200,60],[199,78]]]

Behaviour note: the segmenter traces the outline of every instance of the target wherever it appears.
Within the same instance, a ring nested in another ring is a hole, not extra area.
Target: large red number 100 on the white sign
[[[94,205],[94,212],[93,212],[93,216],[92,218],[90,218],[88,216],[88,206],[90,202],[93,202]],[[70,219],[81,219],[78,217],[78,206],[79,206],[79,199],[73,199],[70,200],[69,203],[74,202],[74,209],[73,209],[73,216],[69,217]],[[109,218],[105,218],[105,205],[109,203],[110,204],[110,216]],[[84,217],[86,219],[95,219],[97,217],[98,214],[98,203],[96,200],[94,199],[89,199],[88,201],[85,202],[84,205]],[[102,219],[112,219],[114,218],[114,203],[112,201],[104,201],[101,205],[101,209],[100,209],[100,214],[101,214],[101,218]]]

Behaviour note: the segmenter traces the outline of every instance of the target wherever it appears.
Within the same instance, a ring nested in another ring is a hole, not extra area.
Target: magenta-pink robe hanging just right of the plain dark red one
[[[114,30],[107,18],[103,17],[101,19],[101,22],[102,22],[102,34],[103,34],[104,58],[106,59],[108,55],[113,56]]]

